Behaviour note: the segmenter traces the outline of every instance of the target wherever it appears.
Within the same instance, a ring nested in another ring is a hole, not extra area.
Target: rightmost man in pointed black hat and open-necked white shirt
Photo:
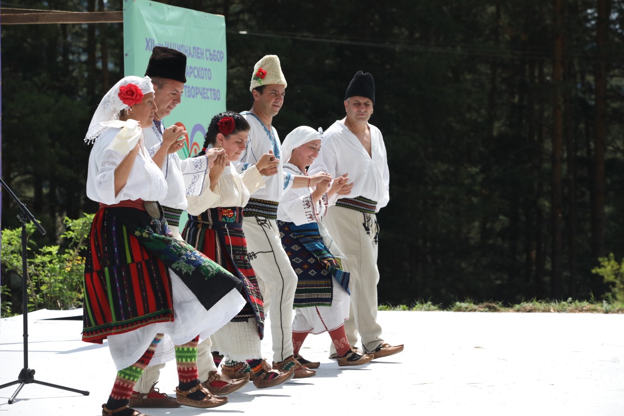
[[[349,343],[356,344],[359,332],[364,352],[378,359],[401,352],[403,345],[384,342],[377,323],[379,226],[375,214],[388,204],[390,177],[383,137],[368,122],[374,104],[373,76],[358,71],[344,95],[346,117],[324,133],[323,151],[309,172],[328,172],[334,177],[348,172],[353,179],[351,193],[329,207],[323,224],[346,256],[342,264],[351,274],[351,311],[344,322]],[[334,345],[330,349],[335,358]]]

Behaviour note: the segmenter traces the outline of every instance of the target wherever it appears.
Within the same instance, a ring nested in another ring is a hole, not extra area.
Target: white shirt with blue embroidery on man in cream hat
[[[251,129],[249,131],[245,152],[243,152],[238,163],[235,165],[236,170],[238,172],[244,172],[251,165],[258,162],[258,159],[260,159],[263,154],[269,151],[273,151],[275,157],[280,159],[280,137],[277,136],[277,132],[273,126],[271,126],[271,131],[268,131],[255,114],[249,111],[243,111],[240,114],[245,117]],[[283,163],[280,163],[278,166],[277,174],[265,177],[266,186],[263,189],[252,192],[252,198],[273,202],[281,201],[284,192],[288,191],[288,189],[293,186],[294,180],[292,174],[284,172],[282,164]]]

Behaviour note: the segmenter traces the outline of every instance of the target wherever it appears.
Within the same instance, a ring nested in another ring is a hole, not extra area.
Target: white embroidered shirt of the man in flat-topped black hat
[[[160,149],[164,131],[163,122],[156,120],[150,129],[143,131],[145,146],[152,157]],[[207,157],[187,157],[182,160],[177,153],[168,154],[162,164],[162,173],[167,180],[168,192],[167,196],[158,201],[165,207],[186,209],[187,195],[199,195],[202,192],[207,172]]]

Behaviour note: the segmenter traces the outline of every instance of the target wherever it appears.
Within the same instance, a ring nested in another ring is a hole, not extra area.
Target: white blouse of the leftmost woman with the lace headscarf
[[[87,197],[107,205],[117,204],[125,199],[140,198],[144,201],[160,201],[167,195],[167,182],[142,142],[140,142],[139,154],[134,161],[128,181],[115,196],[115,168],[124,159],[124,155],[105,149],[120,130],[109,128],[97,138],[91,149],[87,174]],[[143,132],[145,134],[145,130]]]

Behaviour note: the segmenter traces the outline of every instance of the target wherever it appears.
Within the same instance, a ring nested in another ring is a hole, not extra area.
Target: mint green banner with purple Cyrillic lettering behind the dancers
[[[178,124],[188,132],[185,146],[178,151],[185,159],[201,150],[208,122],[226,108],[225,17],[154,1],[125,0],[125,76],[144,76],[154,46],[187,56],[182,102],[165,119],[165,127]]]

